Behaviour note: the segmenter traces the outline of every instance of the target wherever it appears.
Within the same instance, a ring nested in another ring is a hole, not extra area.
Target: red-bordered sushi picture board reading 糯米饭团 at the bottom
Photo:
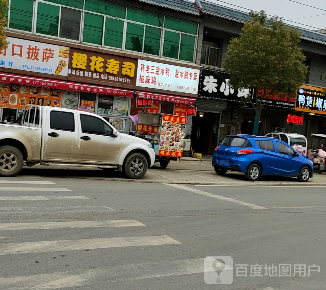
[[[163,114],[158,155],[182,157],[186,117]]]

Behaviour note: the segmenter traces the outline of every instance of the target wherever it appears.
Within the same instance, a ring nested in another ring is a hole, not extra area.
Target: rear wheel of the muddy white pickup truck
[[[1,146],[0,147],[0,175],[15,176],[22,170],[23,157],[16,147]]]

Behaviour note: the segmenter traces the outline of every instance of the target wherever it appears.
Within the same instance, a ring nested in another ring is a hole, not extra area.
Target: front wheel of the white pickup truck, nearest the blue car
[[[140,179],[147,171],[148,163],[144,155],[140,153],[130,154],[122,167],[123,173],[127,178]]]

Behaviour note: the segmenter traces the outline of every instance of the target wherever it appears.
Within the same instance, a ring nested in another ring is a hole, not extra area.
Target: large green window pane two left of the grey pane
[[[11,1],[9,27],[32,31],[33,0]]]

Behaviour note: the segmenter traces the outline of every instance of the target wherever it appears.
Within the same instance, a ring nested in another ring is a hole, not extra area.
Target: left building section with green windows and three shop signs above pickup
[[[135,132],[139,111],[185,116],[195,104],[195,17],[133,1],[9,0],[7,19],[1,121],[38,104],[91,110]]]

